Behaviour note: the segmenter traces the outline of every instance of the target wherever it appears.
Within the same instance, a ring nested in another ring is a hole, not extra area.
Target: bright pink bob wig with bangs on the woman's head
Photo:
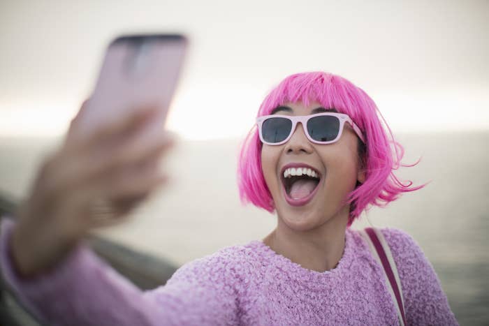
[[[425,186],[412,186],[412,181],[397,179],[393,173],[395,170],[400,166],[416,165],[419,161],[412,165],[401,163],[404,149],[394,140],[377,105],[365,91],[343,77],[325,72],[290,75],[265,97],[257,117],[270,114],[277,106],[287,102],[309,105],[312,101],[321,103],[324,108],[335,108],[338,112],[348,114],[366,140],[365,145],[358,140],[358,154],[365,170],[365,182],[358,183],[345,198],[345,203],[350,204],[348,226],[371,205],[385,207],[402,193]],[[386,129],[379,117],[384,121]],[[255,125],[242,143],[238,160],[238,188],[244,204],[251,202],[272,213],[275,205],[261,169],[261,148]]]

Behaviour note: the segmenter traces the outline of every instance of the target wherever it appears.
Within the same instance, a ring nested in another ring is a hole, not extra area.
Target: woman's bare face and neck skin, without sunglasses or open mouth
[[[302,103],[284,106],[291,110],[275,114],[308,115],[322,108],[318,102],[309,103],[307,107]],[[340,140],[319,145],[310,142],[302,124],[298,124],[285,144],[264,144],[261,161],[265,182],[277,209],[277,227],[263,243],[305,269],[324,272],[335,268],[344,252],[349,218],[350,205],[344,205],[343,201],[355,188],[356,181],[365,181],[356,133],[349,124],[344,124]],[[306,163],[322,175],[316,195],[306,205],[294,207],[285,200],[281,170],[288,163]]]

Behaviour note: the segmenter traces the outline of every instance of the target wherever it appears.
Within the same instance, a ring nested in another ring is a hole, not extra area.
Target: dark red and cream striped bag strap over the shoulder
[[[386,283],[388,291],[391,293],[391,297],[397,310],[397,317],[401,326],[406,325],[406,316],[404,315],[404,297],[402,295],[402,287],[397,273],[397,267],[395,265],[391,249],[389,248],[386,239],[382,232],[377,228],[365,228],[365,230],[359,230],[360,235],[363,236],[367,242],[372,255],[384,267],[384,276],[386,277]]]

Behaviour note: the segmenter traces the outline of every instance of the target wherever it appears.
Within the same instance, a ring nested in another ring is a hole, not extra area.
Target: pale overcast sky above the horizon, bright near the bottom
[[[191,41],[167,128],[243,137],[287,75],[328,71],[394,133],[489,131],[489,1],[0,1],[0,136],[57,136],[120,34]]]

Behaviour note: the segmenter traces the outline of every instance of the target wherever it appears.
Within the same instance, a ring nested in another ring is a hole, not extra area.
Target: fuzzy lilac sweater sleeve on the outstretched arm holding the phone
[[[225,325],[237,316],[233,270],[219,255],[188,262],[165,286],[143,292],[82,242],[52,271],[21,279],[8,248],[14,225],[1,222],[3,281],[48,325]]]

